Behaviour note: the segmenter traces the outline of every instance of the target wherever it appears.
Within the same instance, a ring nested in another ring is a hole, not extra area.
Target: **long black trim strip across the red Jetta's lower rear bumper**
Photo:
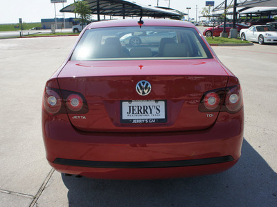
[[[86,168],[172,168],[220,164],[223,162],[233,160],[233,157],[230,155],[224,157],[175,161],[88,161],[78,159],[56,158],[54,164]]]

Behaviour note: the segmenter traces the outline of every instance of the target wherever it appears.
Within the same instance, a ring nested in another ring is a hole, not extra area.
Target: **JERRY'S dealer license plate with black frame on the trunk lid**
[[[120,101],[123,124],[166,123],[166,100]]]

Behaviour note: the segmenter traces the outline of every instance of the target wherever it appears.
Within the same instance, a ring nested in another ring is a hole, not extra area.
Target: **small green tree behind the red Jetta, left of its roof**
[[[75,1],[74,3],[75,14],[78,14],[80,21],[82,22],[82,28],[84,27],[84,23],[91,20],[91,8],[89,7],[89,3],[87,1]]]

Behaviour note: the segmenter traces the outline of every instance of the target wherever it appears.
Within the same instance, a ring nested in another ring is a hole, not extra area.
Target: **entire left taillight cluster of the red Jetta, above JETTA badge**
[[[87,101],[82,94],[49,87],[44,90],[43,106],[44,110],[51,115],[65,114],[66,112],[68,114],[84,114],[89,110]]]

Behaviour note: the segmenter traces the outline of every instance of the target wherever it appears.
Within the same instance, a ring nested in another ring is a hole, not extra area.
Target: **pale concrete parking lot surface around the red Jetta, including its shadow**
[[[238,164],[204,177],[114,181],[66,177],[45,158],[44,84],[76,38],[0,40],[0,206],[276,206],[277,45],[213,47],[242,85]]]

